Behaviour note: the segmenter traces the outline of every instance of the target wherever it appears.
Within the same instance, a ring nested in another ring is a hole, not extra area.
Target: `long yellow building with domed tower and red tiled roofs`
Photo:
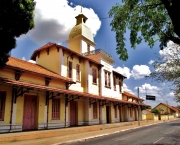
[[[126,77],[95,49],[87,17],[76,19],[68,48],[47,43],[33,52],[35,63],[10,57],[0,69],[0,132],[132,121],[148,106],[123,91]]]

